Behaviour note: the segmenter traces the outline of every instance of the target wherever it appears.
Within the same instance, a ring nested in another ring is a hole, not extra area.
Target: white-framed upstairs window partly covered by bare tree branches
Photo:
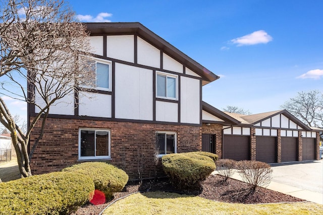
[[[96,90],[112,91],[112,62],[110,60],[103,60],[99,58],[86,59],[95,72],[95,79],[88,83],[86,88],[93,88]]]

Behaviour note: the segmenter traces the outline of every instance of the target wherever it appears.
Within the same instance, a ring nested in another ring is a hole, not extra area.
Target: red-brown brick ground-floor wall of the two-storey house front
[[[31,118],[32,120],[32,118]],[[79,128],[111,129],[109,161],[125,170],[130,179],[154,177],[153,142],[156,131],[177,133],[177,152],[201,151],[201,127],[184,125],[143,124],[75,119],[46,120],[45,133],[31,159],[33,174],[42,174],[78,163]],[[32,147],[39,134],[38,123],[30,138]],[[158,173],[163,174],[159,159]]]

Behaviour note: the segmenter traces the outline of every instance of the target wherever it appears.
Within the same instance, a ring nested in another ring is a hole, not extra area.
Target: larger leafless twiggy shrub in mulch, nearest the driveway
[[[237,168],[244,182],[250,185],[250,190],[255,191],[257,186],[266,187],[272,180],[273,170],[267,163],[260,161],[238,161]]]

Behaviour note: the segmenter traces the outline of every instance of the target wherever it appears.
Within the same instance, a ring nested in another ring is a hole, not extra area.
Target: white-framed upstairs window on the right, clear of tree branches
[[[156,72],[156,97],[178,99],[178,76]]]

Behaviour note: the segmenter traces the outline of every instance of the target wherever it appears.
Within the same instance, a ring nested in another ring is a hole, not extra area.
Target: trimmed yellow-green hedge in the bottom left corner
[[[0,184],[1,214],[69,214],[91,200],[90,177],[53,172]]]

